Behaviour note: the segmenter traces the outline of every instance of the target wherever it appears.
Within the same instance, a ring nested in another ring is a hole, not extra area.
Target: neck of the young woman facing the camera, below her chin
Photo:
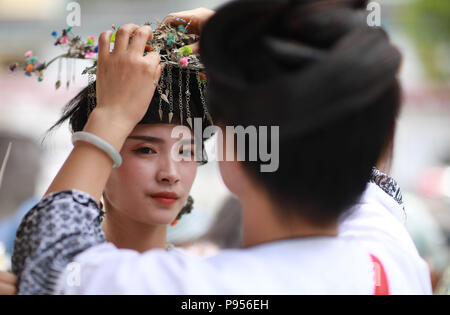
[[[166,225],[137,222],[111,206],[108,207],[102,228],[106,240],[117,248],[133,249],[140,253],[155,248],[166,248]]]

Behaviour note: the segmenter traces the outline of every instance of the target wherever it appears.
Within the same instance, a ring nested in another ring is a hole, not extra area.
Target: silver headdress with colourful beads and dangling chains
[[[160,121],[172,122],[174,116],[174,100],[177,100],[180,123],[183,124],[184,118],[189,126],[192,128],[191,104],[190,99],[192,95],[191,83],[196,83],[198,88],[201,105],[203,107],[203,119],[207,119],[212,125],[211,115],[209,114],[206,101],[205,91],[207,85],[207,75],[204,66],[200,62],[198,54],[194,54],[190,44],[198,41],[199,37],[195,34],[189,34],[188,29],[192,20],[186,21],[178,19],[182,24],[172,26],[161,22],[156,22],[156,27],[153,32],[153,40],[147,42],[144,55],[151,51],[156,51],[161,56],[161,64],[164,65],[160,81],[157,85],[159,93],[159,119]],[[184,23],[184,24],[183,24]],[[151,23],[145,23],[151,25]],[[111,42],[114,43],[118,28],[113,25],[114,33],[111,37]],[[22,63],[14,63],[9,66],[11,71],[22,68],[25,75],[31,76],[36,74],[38,81],[42,81],[44,77],[44,70],[46,70],[54,61],[58,60],[58,78],[55,84],[56,89],[61,86],[61,70],[62,61],[66,60],[67,65],[67,88],[70,82],[75,81],[75,61],[76,59],[91,59],[93,65],[84,69],[82,74],[88,74],[88,89],[89,89],[89,108],[88,113],[91,112],[96,104],[96,93],[94,89],[95,74],[97,71],[97,52],[98,46],[95,45],[95,37],[89,36],[86,40],[82,40],[79,36],[75,36],[72,32],[72,27],[63,29],[58,36],[56,31],[52,32],[52,36],[56,38],[55,46],[61,46],[66,51],[65,53],[53,58],[50,62],[39,62],[37,57],[33,56],[31,51],[25,53],[26,60]],[[130,38],[131,39],[131,38]],[[178,70],[178,71],[177,71]],[[174,88],[173,73],[178,72],[178,89]],[[183,79],[184,78],[184,79]],[[194,82],[191,82],[194,81]],[[185,87],[185,88],[183,88]],[[184,90],[184,93],[183,93]],[[176,95],[178,91],[178,95]],[[167,114],[164,115],[164,112]],[[167,117],[167,120],[165,119]]]

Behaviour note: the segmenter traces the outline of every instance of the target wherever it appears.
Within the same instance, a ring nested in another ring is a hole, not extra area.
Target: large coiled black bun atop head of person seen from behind
[[[213,115],[304,133],[373,104],[401,61],[366,1],[240,0],[205,25],[202,61]]]

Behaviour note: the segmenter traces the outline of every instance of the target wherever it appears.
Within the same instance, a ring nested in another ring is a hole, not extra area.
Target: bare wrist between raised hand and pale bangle
[[[103,108],[95,108],[89,115],[83,131],[90,132],[111,144],[120,152],[125,139],[135,124],[121,119]]]

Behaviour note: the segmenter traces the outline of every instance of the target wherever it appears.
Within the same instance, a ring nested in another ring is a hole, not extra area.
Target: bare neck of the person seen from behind
[[[283,239],[338,235],[338,224],[326,227],[313,225],[301,218],[281,219],[281,210],[272,204],[267,193],[249,192],[241,199],[243,247]]]

